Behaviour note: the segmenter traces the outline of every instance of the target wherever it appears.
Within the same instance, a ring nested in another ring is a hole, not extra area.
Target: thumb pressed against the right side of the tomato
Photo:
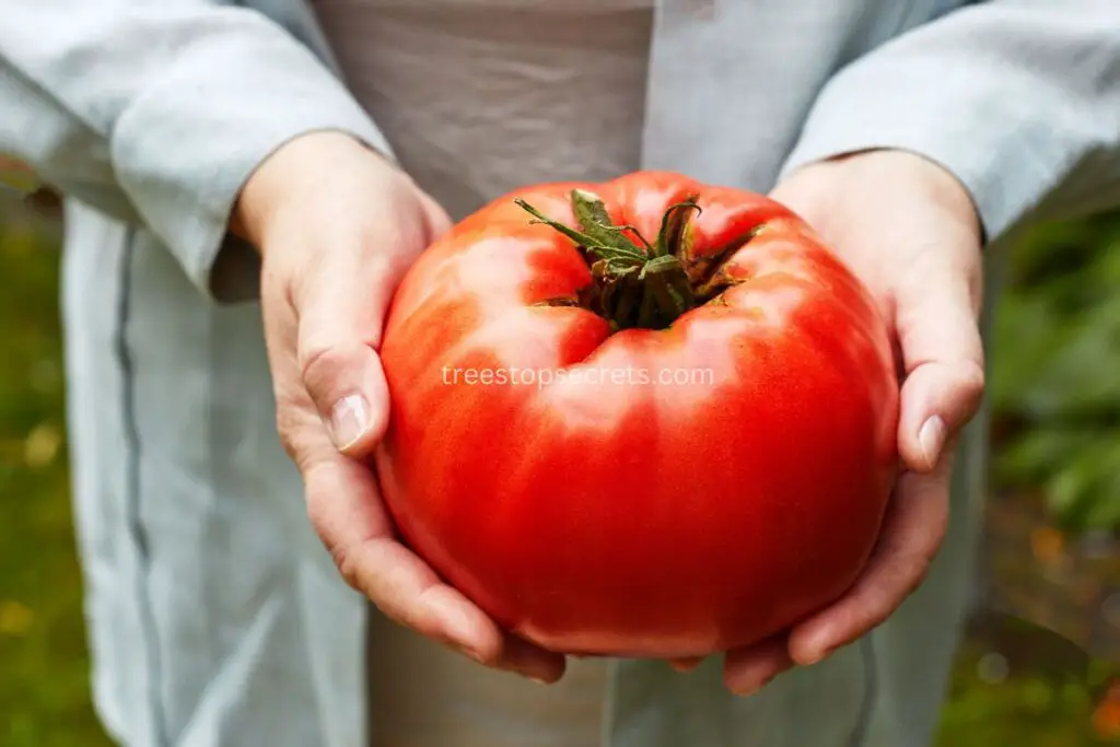
[[[906,466],[936,467],[946,445],[972,419],[984,390],[977,302],[964,273],[927,278],[914,298],[900,295],[896,328],[905,379],[898,445]],[[932,281],[932,282],[930,282]]]

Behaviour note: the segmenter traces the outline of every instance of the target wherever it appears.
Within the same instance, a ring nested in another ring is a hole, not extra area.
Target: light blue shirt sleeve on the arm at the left
[[[143,225],[218,300],[220,254],[248,251],[228,233],[234,202],[272,151],[336,130],[392,155],[334,71],[258,11],[34,0],[4,3],[2,17],[0,153]]]

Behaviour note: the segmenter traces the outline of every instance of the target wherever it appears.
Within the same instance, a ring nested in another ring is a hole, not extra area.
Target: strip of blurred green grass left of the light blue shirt
[[[56,232],[0,196],[0,745],[106,745],[68,502]]]

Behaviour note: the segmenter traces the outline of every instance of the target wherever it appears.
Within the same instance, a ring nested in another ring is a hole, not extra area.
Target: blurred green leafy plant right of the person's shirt
[[[1071,530],[1120,529],[1120,215],[1047,225],[1014,248],[990,387],[995,474],[1042,485]]]

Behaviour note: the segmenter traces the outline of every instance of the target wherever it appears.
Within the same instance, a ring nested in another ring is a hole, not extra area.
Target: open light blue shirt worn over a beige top
[[[0,21],[0,151],[62,188],[80,549],[106,728],[134,747],[357,747],[367,615],[310,531],[274,432],[246,176],[318,129],[392,143],[302,0],[36,0]],[[808,161],[916,151],[997,243],[1120,205],[1114,0],[663,0],[642,165],[768,190]],[[989,276],[995,277],[995,276]],[[989,299],[990,299],[989,293]],[[718,662],[613,667],[609,747],[924,747],[983,493],[890,620],[757,697]],[[377,715],[370,718],[376,721]]]

